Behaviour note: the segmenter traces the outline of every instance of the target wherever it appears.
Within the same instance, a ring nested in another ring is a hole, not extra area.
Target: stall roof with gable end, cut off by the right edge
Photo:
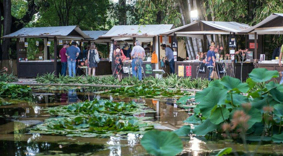
[[[240,34],[257,32],[257,34],[283,34],[283,14],[272,13],[260,23],[245,29]]]

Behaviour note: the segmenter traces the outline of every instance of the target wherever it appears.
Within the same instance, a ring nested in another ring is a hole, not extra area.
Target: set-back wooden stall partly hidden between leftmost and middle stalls
[[[107,45],[108,53],[110,53],[109,44],[111,42],[110,38],[100,38],[99,36],[104,35],[108,31],[98,30],[98,31],[83,31],[86,35],[91,37],[92,39],[85,39],[83,42],[87,42],[88,44],[95,43],[97,44],[105,44]],[[101,58],[98,66],[95,69],[95,75],[111,75],[111,62],[109,62],[109,58]]]

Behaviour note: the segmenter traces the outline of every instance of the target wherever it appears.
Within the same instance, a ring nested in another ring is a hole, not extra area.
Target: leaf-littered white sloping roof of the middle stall
[[[173,24],[113,26],[101,38],[153,37],[172,29]]]

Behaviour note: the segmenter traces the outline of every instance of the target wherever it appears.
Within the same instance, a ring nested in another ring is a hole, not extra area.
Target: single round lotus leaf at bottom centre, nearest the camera
[[[155,156],[174,156],[183,150],[181,139],[173,132],[151,130],[143,135],[140,143]]]

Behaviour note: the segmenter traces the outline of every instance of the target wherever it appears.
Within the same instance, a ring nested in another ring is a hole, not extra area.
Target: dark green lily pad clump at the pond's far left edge
[[[18,84],[0,82],[0,96],[10,99],[28,99],[31,97],[31,88]]]

